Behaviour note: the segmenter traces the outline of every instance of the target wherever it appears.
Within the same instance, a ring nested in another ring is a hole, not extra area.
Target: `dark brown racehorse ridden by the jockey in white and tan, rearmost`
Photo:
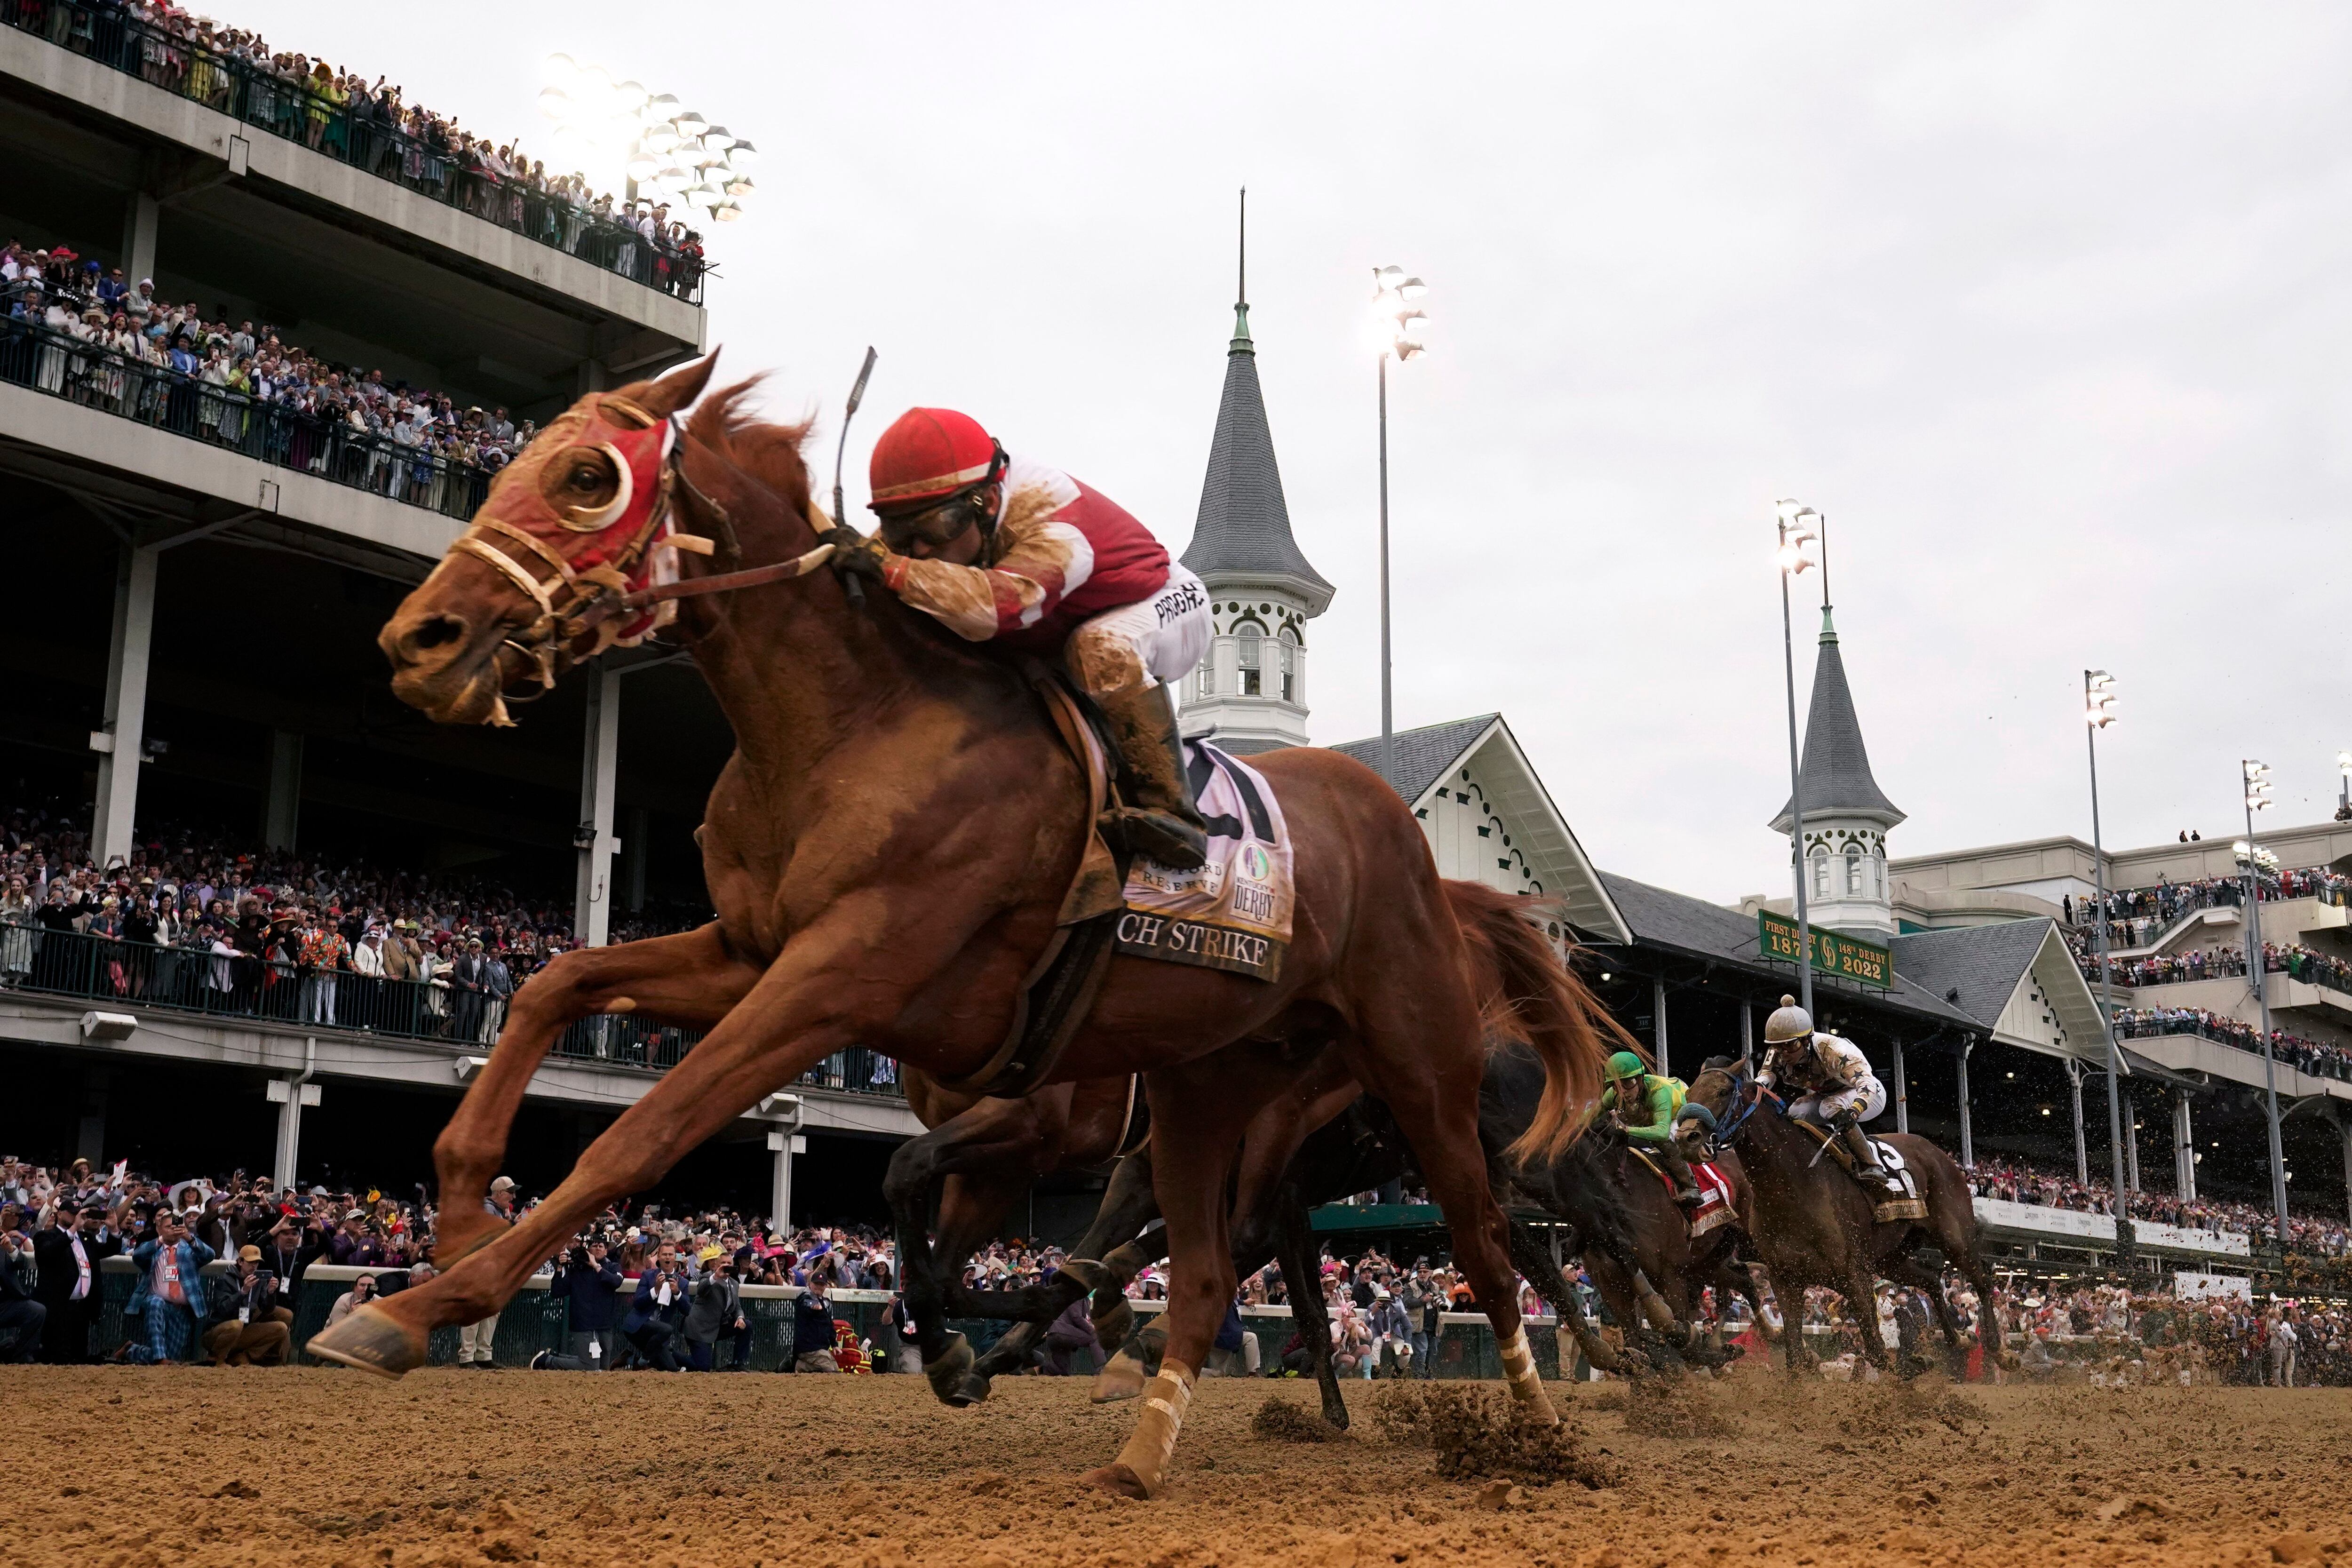
[[[1987,1359],[1999,1356],[2002,1324],[1992,1302],[1992,1269],[1978,1248],[1976,1201],[1950,1154],[1912,1133],[1882,1138],[1903,1157],[1926,1201],[1926,1220],[1882,1222],[1870,1194],[1842,1166],[1818,1159],[1820,1140],[1783,1114],[1780,1098],[1750,1077],[1748,1063],[1708,1060],[1691,1081],[1691,1103],[1715,1114],[1717,1138],[1738,1150],[1748,1173],[1748,1237],[1780,1298],[1790,1371],[1806,1359],[1797,1312],[1804,1286],[1844,1295],[1863,1335],[1863,1354],[1872,1366],[1889,1368],[1875,1312],[1875,1276],[1924,1291],[1936,1305],[1945,1345],[1957,1354],[1959,1321],[1945,1300],[1943,1279],[1917,1258],[1929,1241],[1976,1286],[1978,1342]]]

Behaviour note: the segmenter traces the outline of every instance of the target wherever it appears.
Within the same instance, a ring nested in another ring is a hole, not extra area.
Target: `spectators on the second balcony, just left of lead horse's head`
[[[449,515],[473,515],[536,435],[503,407],[320,360],[226,306],[160,299],[153,277],[68,244],[0,247],[0,378]]]

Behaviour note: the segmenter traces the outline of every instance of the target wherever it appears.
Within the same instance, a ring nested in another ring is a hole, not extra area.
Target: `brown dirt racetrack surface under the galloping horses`
[[[1555,1387],[1613,1486],[1444,1481],[1350,1385],[1202,1385],[1169,1493],[1075,1476],[1134,1406],[1000,1380],[0,1368],[12,1568],[162,1563],[2345,1563],[2352,1392]],[[1421,1385],[1428,1387],[1428,1385]],[[1444,1387],[1444,1385],[1442,1385]],[[1458,1385],[1456,1385],[1458,1387]],[[1668,1436],[1630,1427],[1649,1427]]]

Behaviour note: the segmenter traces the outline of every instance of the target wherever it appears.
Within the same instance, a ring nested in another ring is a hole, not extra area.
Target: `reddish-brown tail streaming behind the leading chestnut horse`
[[[1522,1161],[1552,1161],[1583,1131],[1602,1093],[1602,1065],[1635,1039],[1559,959],[1522,900],[1482,882],[1446,882],[1446,903],[1470,950],[1470,978],[1489,1037],[1524,1039],[1543,1063],[1543,1098],[1510,1145]]]

